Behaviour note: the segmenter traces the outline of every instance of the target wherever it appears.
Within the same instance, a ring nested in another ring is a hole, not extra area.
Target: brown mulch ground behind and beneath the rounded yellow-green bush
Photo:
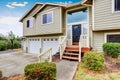
[[[112,58],[108,55],[104,55],[104,58],[105,58],[105,63],[104,63],[103,70],[93,71],[88,68],[84,68],[84,69],[87,70],[87,73],[94,73],[94,74],[120,71],[120,58]]]

